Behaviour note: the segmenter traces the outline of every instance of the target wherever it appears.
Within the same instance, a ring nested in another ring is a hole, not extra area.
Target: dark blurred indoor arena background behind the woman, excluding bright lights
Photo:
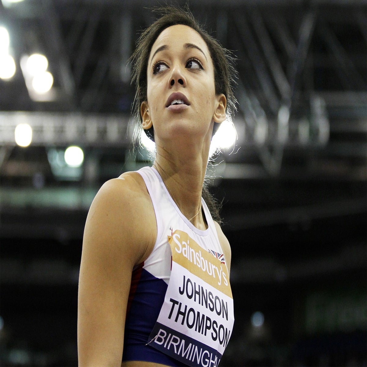
[[[17,63],[0,81],[2,366],[77,364],[88,208],[107,179],[149,164],[132,149],[127,61],[159,4],[0,3]],[[235,300],[221,365],[366,366],[366,1],[192,0],[190,9],[239,72],[238,140],[210,168]],[[52,101],[29,97],[19,60],[33,52],[48,58]],[[33,128],[27,148],[14,142],[21,122]],[[72,144],[83,166],[57,171],[50,157]]]

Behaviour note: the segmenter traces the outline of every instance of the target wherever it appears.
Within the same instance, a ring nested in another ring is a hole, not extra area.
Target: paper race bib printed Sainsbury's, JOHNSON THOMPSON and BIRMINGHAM
[[[180,230],[168,243],[171,277],[148,344],[189,366],[216,367],[234,322],[227,266]]]

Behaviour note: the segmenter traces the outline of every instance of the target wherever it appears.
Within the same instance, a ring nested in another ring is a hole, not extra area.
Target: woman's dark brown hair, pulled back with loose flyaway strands
[[[137,47],[131,56],[132,62],[132,81],[135,84],[136,93],[133,104],[133,110],[138,121],[142,122],[140,114],[140,106],[143,101],[148,99],[147,97],[147,69],[148,69],[148,58],[154,42],[160,33],[173,25],[182,24],[187,25],[190,28],[196,30],[197,33],[203,38],[207,44],[210,52],[210,57],[214,66],[214,83],[215,83],[215,94],[223,93],[227,99],[226,113],[229,115],[231,108],[236,110],[236,99],[233,95],[232,83],[234,82],[234,75],[236,74],[235,68],[233,67],[233,57],[230,52],[222,47],[217,40],[215,40],[209,33],[207,33],[188,7],[185,10],[176,6],[167,6],[163,8],[155,8],[153,11],[160,15],[152,25],[145,29],[137,41]],[[141,126],[141,124],[140,124]],[[219,124],[214,124],[215,129],[219,127]],[[141,127],[140,127],[141,128]],[[154,141],[154,130],[153,126],[149,130],[144,130],[146,135]],[[213,134],[215,131],[213,131]],[[211,215],[215,221],[221,222],[219,216],[219,205],[216,203],[214,197],[209,193],[207,184],[204,183],[203,187],[203,198],[206,201]]]

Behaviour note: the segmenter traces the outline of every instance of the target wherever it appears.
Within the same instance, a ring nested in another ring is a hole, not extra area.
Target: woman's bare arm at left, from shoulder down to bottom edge
[[[155,241],[151,216],[141,223],[147,202],[131,183],[106,182],[88,213],[78,291],[80,366],[121,365],[132,268],[143,260],[148,239]]]

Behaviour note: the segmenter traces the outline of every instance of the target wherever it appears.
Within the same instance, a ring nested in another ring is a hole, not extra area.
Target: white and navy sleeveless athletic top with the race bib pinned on
[[[201,199],[208,228],[197,229],[154,167],[137,172],[152,199],[157,239],[132,274],[123,360],[217,366],[234,315],[226,259],[210,211]]]

